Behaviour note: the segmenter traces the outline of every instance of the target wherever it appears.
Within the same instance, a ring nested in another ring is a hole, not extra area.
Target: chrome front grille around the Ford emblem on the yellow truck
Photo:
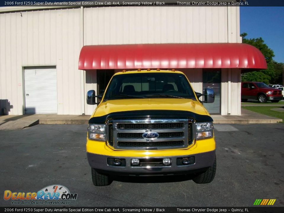
[[[193,120],[112,120],[107,125],[107,143],[114,149],[180,149],[193,143]],[[159,137],[144,138],[145,132]]]

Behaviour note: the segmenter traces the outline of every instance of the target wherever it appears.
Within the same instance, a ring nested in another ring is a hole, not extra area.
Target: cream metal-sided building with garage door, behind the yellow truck
[[[86,104],[86,92],[97,94],[105,86],[102,76],[127,67],[79,70],[83,46],[241,43],[239,20],[239,7],[2,7],[2,114],[91,114],[96,105]],[[168,68],[185,72],[197,92],[215,87],[212,114],[240,115],[241,70],[265,68],[259,53],[254,50],[246,66]]]

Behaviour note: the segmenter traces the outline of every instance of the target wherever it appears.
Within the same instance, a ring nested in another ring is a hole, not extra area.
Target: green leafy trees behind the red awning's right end
[[[280,81],[282,78],[282,63],[277,63],[273,60],[273,57],[275,56],[273,50],[264,43],[264,40],[261,37],[248,39],[246,38],[247,35],[247,33],[241,34],[243,37],[243,43],[255,46],[262,52],[267,62],[267,69],[243,73],[242,81],[260,81],[266,84],[282,82]]]

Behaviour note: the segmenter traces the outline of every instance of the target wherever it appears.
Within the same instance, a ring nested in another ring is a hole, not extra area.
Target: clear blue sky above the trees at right
[[[240,7],[240,25],[246,38],[262,37],[273,59],[284,63],[284,7]]]

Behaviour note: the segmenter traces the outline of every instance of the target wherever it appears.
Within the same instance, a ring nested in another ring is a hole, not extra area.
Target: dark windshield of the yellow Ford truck
[[[115,75],[106,90],[104,101],[134,98],[195,99],[195,96],[183,74],[150,72]]]

